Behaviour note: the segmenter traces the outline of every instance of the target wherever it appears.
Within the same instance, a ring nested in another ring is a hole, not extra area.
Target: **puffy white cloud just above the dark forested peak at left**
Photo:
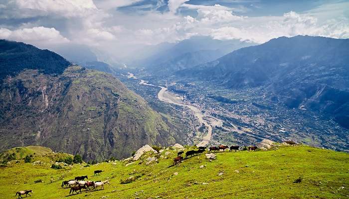
[[[47,28],[43,26],[16,29],[13,31],[6,28],[0,28],[0,38],[34,43],[37,45],[44,43],[57,44],[69,42],[69,39],[63,37],[55,28]]]

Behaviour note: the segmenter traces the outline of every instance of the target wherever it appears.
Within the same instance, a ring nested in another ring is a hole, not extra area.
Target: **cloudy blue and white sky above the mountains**
[[[349,0],[0,0],[0,39],[115,57],[194,35],[264,43],[299,34],[349,38]]]

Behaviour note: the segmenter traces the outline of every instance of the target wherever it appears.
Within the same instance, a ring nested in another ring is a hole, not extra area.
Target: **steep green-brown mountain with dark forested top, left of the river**
[[[144,99],[112,75],[69,66],[48,50],[1,42],[6,77],[0,84],[0,151],[42,145],[101,161],[127,157],[145,143],[180,142]]]

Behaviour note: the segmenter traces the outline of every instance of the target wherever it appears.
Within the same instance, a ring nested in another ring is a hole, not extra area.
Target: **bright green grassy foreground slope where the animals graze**
[[[145,159],[154,156],[148,153],[127,167],[121,161],[116,165],[74,165],[62,170],[32,163],[11,164],[0,169],[1,197],[14,198],[16,191],[31,189],[32,199],[66,198],[69,189],[61,189],[62,179],[81,175],[88,175],[93,181],[109,179],[110,185],[105,190],[83,192],[69,199],[344,199],[349,195],[348,153],[306,145],[281,146],[270,151],[221,152],[211,162],[201,155],[171,166],[176,151],[169,151],[168,159],[158,155],[159,163],[146,165]],[[165,152],[161,155],[165,156]],[[204,168],[200,169],[200,165]],[[93,171],[99,169],[104,172],[94,177]],[[219,176],[221,172],[223,175]],[[120,180],[131,176],[141,177],[120,184]],[[294,183],[300,176],[302,182]],[[33,183],[39,179],[44,183]],[[55,182],[50,183],[51,179]]]

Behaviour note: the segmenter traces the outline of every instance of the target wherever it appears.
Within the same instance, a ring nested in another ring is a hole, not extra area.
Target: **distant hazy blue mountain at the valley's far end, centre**
[[[138,65],[152,72],[168,73],[215,60],[233,50],[254,43],[239,40],[217,40],[209,36],[193,36],[178,43],[163,43],[143,51],[148,56]],[[143,52],[142,51],[142,52]]]

